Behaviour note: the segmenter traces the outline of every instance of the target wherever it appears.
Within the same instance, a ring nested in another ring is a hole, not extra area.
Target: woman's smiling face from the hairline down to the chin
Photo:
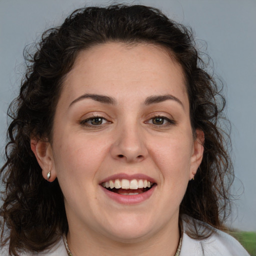
[[[119,241],[176,230],[202,154],[181,67],[151,44],[81,51],[64,79],[49,147],[70,230]]]

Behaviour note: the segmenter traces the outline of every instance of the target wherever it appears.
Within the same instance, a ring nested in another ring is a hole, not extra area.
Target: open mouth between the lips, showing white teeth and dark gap
[[[135,195],[148,191],[154,184],[146,179],[114,179],[102,182],[101,186],[114,193]]]

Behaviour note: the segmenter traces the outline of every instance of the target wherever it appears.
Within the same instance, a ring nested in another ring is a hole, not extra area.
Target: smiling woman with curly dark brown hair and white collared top
[[[224,99],[189,30],[88,7],[37,48],[10,108],[3,255],[248,255],[220,231]]]

